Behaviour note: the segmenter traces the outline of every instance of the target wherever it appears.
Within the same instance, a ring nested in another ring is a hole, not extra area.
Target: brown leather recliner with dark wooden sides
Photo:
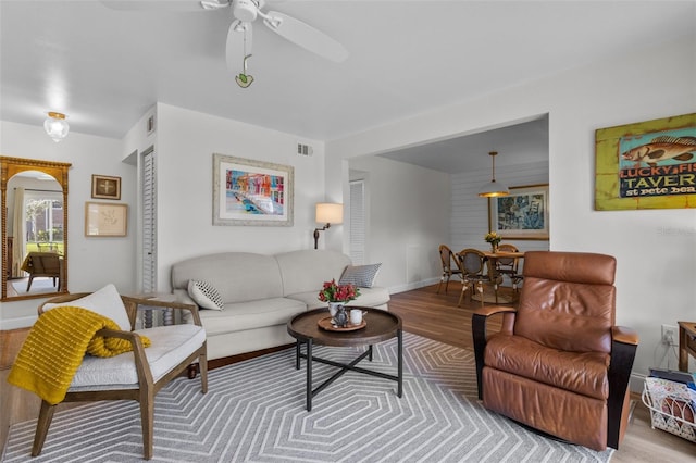
[[[636,333],[614,326],[616,259],[531,251],[518,309],[474,312],[478,398],[532,428],[594,450],[619,448]],[[486,339],[486,321],[505,313]]]

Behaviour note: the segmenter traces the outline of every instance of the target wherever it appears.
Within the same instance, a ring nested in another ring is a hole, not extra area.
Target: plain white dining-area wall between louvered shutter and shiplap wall
[[[449,238],[449,174],[376,157],[353,159],[350,168],[369,172],[365,263],[382,263],[376,284],[398,292],[439,278],[437,247]]]

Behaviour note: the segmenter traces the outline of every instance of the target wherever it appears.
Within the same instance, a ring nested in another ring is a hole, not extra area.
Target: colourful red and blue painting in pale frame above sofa
[[[293,226],[295,168],[213,154],[213,225]]]

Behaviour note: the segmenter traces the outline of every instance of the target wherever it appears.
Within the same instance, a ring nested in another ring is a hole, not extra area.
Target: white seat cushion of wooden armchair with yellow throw
[[[171,325],[138,329],[152,341],[145,353],[157,383],[206,341],[206,330],[197,325]],[[103,389],[136,389],[138,374],[133,352],[112,358],[85,355],[71,383],[70,392]]]

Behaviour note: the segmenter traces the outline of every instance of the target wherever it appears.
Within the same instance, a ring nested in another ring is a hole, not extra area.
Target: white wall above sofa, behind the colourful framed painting
[[[221,251],[273,254],[314,247],[314,204],[324,201],[323,142],[162,103],[158,103],[157,118],[160,290],[170,289],[171,265],[184,259]],[[313,154],[297,154],[298,141],[312,146]],[[294,166],[294,225],[213,226],[213,153]]]

